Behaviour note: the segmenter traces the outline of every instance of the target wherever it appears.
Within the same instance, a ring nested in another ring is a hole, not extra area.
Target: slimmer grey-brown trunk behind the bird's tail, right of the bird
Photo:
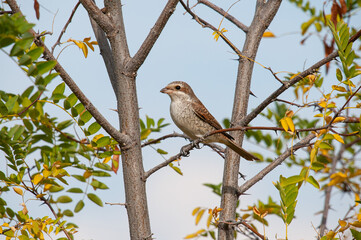
[[[246,41],[243,45],[242,55],[255,59],[263,33],[276,15],[281,0],[263,1],[258,0],[253,21],[246,33]],[[231,123],[234,127],[241,126],[240,122],[247,114],[250,84],[254,62],[245,57],[240,57],[238,64],[237,83],[233,104]],[[238,143],[242,143],[244,134],[234,132],[233,137]],[[238,173],[240,167],[239,155],[232,151],[226,152],[226,160],[223,170],[223,187],[220,221],[235,220],[238,201]],[[227,224],[220,224],[218,239],[234,239],[233,228]]]

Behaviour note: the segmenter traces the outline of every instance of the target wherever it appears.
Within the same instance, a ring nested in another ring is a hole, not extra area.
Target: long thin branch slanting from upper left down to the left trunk
[[[20,13],[19,6],[17,5],[15,0],[7,0],[11,10],[15,13]],[[53,60],[56,61],[54,55],[50,52],[50,50],[45,46],[43,41],[38,38],[37,33],[31,29],[30,33],[33,34],[34,43],[37,46],[44,48],[44,58],[48,61]],[[59,73],[60,77],[66,83],[66,85],[70,88],[70,90],[76,95],[79,101],[84,105],[85,109],[88,110],[91,115],[95,118],[95,120],[104,128],[104,130],[113,137],[119,144],[121,148],[126,148],[130,144],[130,138],[128,135],[120,133],[116,128],[114,128],[108,120],[95,108],[95,106],[91,103],[91,101],[85,96],[85,94],[81,91],[81,89],[76,85],[74,80],[69,76],[69,74],[65,71],[65,69],[60,65],[59,62],[56,63],[54,67],[55,71]]]

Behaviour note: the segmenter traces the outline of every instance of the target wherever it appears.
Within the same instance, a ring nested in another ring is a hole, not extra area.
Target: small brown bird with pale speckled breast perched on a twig
[[[197,98],[192,88],[186,82],[171,82],[162,88],[160,92],[169,95],[171,99],[170,115],[173,122],[192,140],[202,138],[207,133],[222,129],[219,122]],[[234,141],[234,138],[226,132],[208,136],[203,140],[203,143],[212,142],[225,144],[246,160],[259,160],[256,156],[240,147]]]

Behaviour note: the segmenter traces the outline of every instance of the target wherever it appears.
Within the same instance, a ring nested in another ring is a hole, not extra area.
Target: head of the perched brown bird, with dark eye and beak
[[[169,83],[160,92],[168,94],[172,100],[189,100],[195,97],[192,88],[181,81]]]

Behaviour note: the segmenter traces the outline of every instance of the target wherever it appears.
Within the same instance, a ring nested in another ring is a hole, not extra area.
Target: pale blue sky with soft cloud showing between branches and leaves
[[[48,36],[46,40],[48,47],[51,47],[76,1],[40,0],[39,2],[47,9],[40,8],[40,21],[35,19],[33,1],[23,0],[19,1],[19,4],[29,21],[37,24],[35,30],[40,32],[51,31],[54,13],[58,11],[53,26],[54,34]],[[97,2],[100,3],[100,1]],[[233,1],[214,2],[224,3],[222,5],[224,9],[233,3]],[[240,1],[230,13],[240,16],[240,21],[249,24],[254,12],[254,2],[250,0]],[[131,53],[134,54],[159,15],[164,1],[123,1],[123,4],[128,44]],[[213,14],[205,7],[198,6],[195,11],[215,26],[218,26],[221,20],[219,15]],[[189,15],[184,15],[184,12],[182,7],[178,5],[138,73],[140,116],[144,117],[147,114],[156,119],[164,117],[166,122],[171,122],[169,115],[170,100],[168,96],[159,91],[167,83],[181,80],[192,86],[210,112],[221,121],[225,117],[230,117],[232,111],[233,88],[237,74],[237,62],[233,59],[236,56],[221,40],[216,42],[209,29],[201,28]],[[284,1],[269,28],[276,36],[281,37],[263,39],[256,60],[265,66],[270,66],[274,71],[297,72],[321,59],[324,56],[323,46],[316,37],[311,37],[305,45],[299,44],[302,39],[300,24],[306,19],[307,16],[303,12],[289,4],[288,1]],[[360,16],[357,16],[354,22],[357,23],[356,27],[360,27]],[[243,32],[235,29],[227,21],[224,21],[222,26],[229,30],[227,34],[231,40],[238,48],[242,49]],[[69,38],[81,40],[89,36],[94,39],[87,13],[80,6],[62,41],[64,42]],[[56,53],[60,49],[61,47],[57,47]],[[59,62],[100,112],[117,126],[116,114],[109,110],[116,107],[115,96],[98,48],[96,47],[95,52],[89,52],[88,58],[84,59],[82,52],[76,46],[70,46],[63,51]],[[20,93],[30,85],[25,74],[6,55],[0,54],[0,64],[2,69],[0,88],[2,90]],[[332,75],[334,69],[331,69],[330,72],[331,76],[329,76],[328,81],[334,79]],[[60,82],[61,80],[57,78],[53,86]],[[279,83],[272,75],[262,67],[255,65],[252,91],[257,95],[257,98],[251,97],[249,109],[257,106],[277,87],[279,87]],[[288,96],[292,96],[292,94],[285,93],[282,98],[287,99]],[[49,112],[58,114],[59,110],[49,107]],[[59,118],[66,119],[67,116],[61,113]],[[261,118],[252,122],[252,125],[264,124],[264,120]],[[172,123],[161,134],[168,134],[173,131],[179,132]],[[161,146],[169,151],[169,156],[171,156],[176,154],[185,143],[184,140],[172,139]],[[252,151],[255,144],[246,142],[244,147]],[[264,154],[272,156],[267,152]],[[144,149],[145,169],[149,169],[161,161],[163,161],[162,158],[152,149]],[[242,162],[241,172],[250,178],[264,166]],[[197,206],[213,208],[220,205],[220,199],[208,188],[202,186],[202,183],[218,184],[221,182],[223,160],[217,154],[206,148],[193,151],[189,158],[184,158],[180,162],[180,167],[184,176],[179,176],[171,169],[165,168],[148,180],[147,190],[152,232],[158,240],[182,239],[185,235],[204,227],[204,223],[199,226],[194,225],[194,217],[191,216],[193,208]],[[272,181],[277,181],[280,174],[290,176],[297,174],[298,171],[299,169],[290,171],[285,166],[278,167],[272,174],[253,187],[248,192],[250,195],[242,197],[242,208],[252,204],[256,199],[267,201],[269,195],[272,195],[274,200],[279,200],[278,192]],[[124,202],[121,170],[118,175],[102,180],[110,187],[110,190],[107,191],[97,191],[103,201]],[[241,182],[242,180],[240,180]],[[78,196],[72,195],[72,197],[75,203],[79,200]],[[315,202],[320,202],[320,205],[314,206]],[[337,204],[336,210],[338,210],[348,208],[350,201],[347,196],[342,197],[339,194],[336,195],[334,203]],[[29,204],[33,207],[28,207],[30,213],[35,211],[39,205],[37,202]],[[316,235],[312,225],[317,227],[320,223],[320,217],[315,216],[314,213],[321,210],[322,205],[322,194],[313,187],[306,185],[301,189],[296,208],[296,219],[289,227],[289,239],[312,239]],[[73,207],[74,205],[67,206],[70,209]],[[42,211],[39,214],[50,215],[44,206],[39,209]],[[330,226],[334,227],[338,215],[336,211],[331,211],[330,214],[330,222],[333,224]],[[83,211],[69,221],[75,222],[80,227],[79,233],[75,235],[76,239],[129,239],[127,216],[123,207],[106,205],[100,208],[88,201]],[[271,227],[266,230],[269,239],[274,239],[275,234],[278,237],[284,237],[285,230],[282,221],[279,218],[269,218],[268,221],[271,224]],[[261,226],[259,227],[261,229]]]

